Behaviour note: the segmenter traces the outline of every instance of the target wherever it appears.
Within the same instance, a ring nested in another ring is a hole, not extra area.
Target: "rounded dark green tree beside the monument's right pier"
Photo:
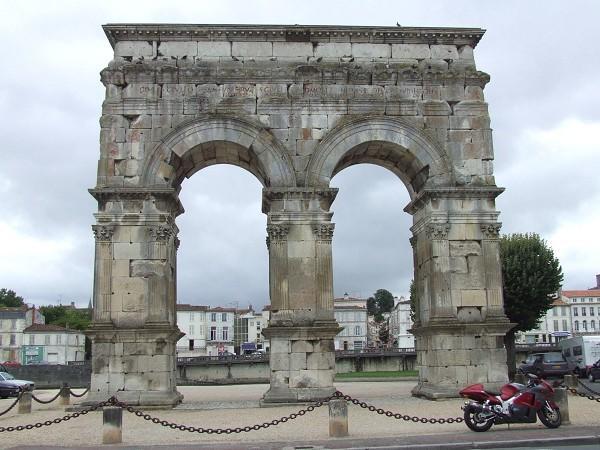
[[[508,374],[516,372],[515,333],[535,328],[563,281],[562,268],[546,241],[535,233],[500,239],[504,311],[517,325],[504,337]]]

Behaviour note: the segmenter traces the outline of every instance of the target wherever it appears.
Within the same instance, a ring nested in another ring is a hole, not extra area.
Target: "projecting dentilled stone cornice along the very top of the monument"
[[[339,25],[107,24],[104,33],[118,41],[288,41],[381,44],[452,44],[475,47],[481,28],[368,27]]]

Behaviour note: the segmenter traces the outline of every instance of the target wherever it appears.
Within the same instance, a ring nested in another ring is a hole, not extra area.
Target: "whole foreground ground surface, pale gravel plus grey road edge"
[[[598,385],[598,383],[596,383]],[[410,396],[414,381],[342,382],[337,388],[352,397],[365,400],[376,407],[401,414],[422,417],[458,417],[462,400],[427,401]],[[595,386],[597,387],[597,386]],[[150,411],[161,420],[195,427],[244,427],[271,421],[297,411],[298,407],[260,408],[258,402],[268,385],[181,387],[184,403],[167,411]],[[600,389],[597,389],[600,391]],[[50,398],[56,391],[40,391],[40,398]],[[0,400],[0,411],[10,400]],[[123,448],[143,448],[146,445],[165,448],[498,448],[511,441],[513,446],[527,446],[540,439],[551,438],[564,443],[586,437],[600,444],[600,403],[580,397],[569,397],[570,426],[548,430],[541,424],[493,427],[487,433],[473,433],[462,423],[421,424],[398,421],[349,406],[350,436],[330,439],[328,410],[319,408],[296,420],[266,430],[232,435],[198,435],[175,431],[144,421],[132,414],[123,417]],[[25,425],[43,422],[64,415],[57,402],[49,405],[34,403],[31,415],[18,415],[16,408],[0,417],[0,426]],[[520,440],[521,442],[513,442]],[[98,446],[102,441],[102,415],[99,412],[53,424],[40,429],[0,434],[0,448],[41,449],[48,446]],[[486,444],[488,442],[488,444]],[[451,444],[448,446],[448,444]],[[441,447],[441,444],[445,444]],[[129,447],[128,447],[129,446]],[[406,447],[409,446],[409,447]],[[506,445],[504,445],[506,447]],[[104,446],[103,448],[106,448]],[[538,447],[539,448],[539,447]]]

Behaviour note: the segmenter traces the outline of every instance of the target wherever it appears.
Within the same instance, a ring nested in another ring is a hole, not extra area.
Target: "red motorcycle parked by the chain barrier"
[[[473,431],[487,431],[503,423],[535,423],[537,417],[548,428],[561,424],[560,410],[554,402],[554,388],[545,380],[529,374],[527,384],[508,383],[500,392],[473,384],[460,391],[465,402],[465,423]]]

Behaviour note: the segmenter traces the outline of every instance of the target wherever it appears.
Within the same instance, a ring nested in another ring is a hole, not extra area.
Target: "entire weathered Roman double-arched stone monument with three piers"
[[[212,164],[263,185],[271,317],[265,402],[335,392],[331,178],[410,194],[419,383],[507,380],[493,147],[478,28],[113,24],[101,72],[89,403],[170,407],[182,181]],[[408,289],[408,287],[407,287]]]

